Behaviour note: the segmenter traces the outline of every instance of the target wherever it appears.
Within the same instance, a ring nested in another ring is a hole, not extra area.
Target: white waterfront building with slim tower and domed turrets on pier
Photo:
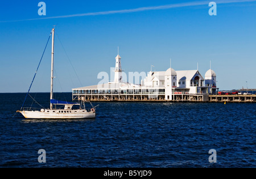
[[[123,82],[121,57],[115,57],[114,82],[73,88],[73,100],[90,101],[208,101],[218,92],[216,73],[209,69],[150,71],[141,84]]]

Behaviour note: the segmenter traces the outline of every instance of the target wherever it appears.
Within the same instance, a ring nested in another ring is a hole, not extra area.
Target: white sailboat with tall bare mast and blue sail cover
[[[86,119],[96,118],[96,107],[86,110],[85,100],[81,98],[81,103],[71,103],[66,101],[60,101],[53,99],[53,54],[54,54],[54,33],[55,28],[52,29],[52,60],[51,60],[51,94],[50,94],[50,108],[34,110],[31,108],[22,108],[16,112],[21,113],[27,119]],[[49,40],[49,39],[48,39]],[[48,43],[48,42],[47,42]],[[39,63],[40,65],[40,63]],[[35,76],[34,76],[35,78]],[[34,80],[34,79],[33,79]],[[31,83],[32,85],[32,83]],[[30,90],[28,90],[29,92]],[[25,99],[26,100],[26,99]],[[24,104],[24,103],[23,103]],[[64,105],[64,109],[57,109],[57,105]],[[75,105],[79,105],[79,108],[74,108]],[[55,108],[53,108],[55,106]]]

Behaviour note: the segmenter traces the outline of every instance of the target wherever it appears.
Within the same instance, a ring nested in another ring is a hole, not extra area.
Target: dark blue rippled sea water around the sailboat
[[[14,116],[25,95],[0,93],[0,167],[256,166],[256,104],[93,103],[95,120],[44,121]],[[48,93],[31,96],[48,105]]]

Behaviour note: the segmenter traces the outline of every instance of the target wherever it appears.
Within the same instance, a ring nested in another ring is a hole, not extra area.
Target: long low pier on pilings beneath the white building
[[[171,100],[166,100],[164,92],[122,92],[122,91],[73,91],[73,100],[85,99],[87,101],[127,101],[127,102],[205,102],[205,103],[256,103],[256,95],[209,95],[207,93],[175,92]]]

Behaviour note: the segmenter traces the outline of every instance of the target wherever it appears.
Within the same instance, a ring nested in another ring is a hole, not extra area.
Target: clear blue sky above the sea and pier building
[[[0,92],[27,92],[53,25],[76,71],[56,37],[58,92],[97,84],[101,71],[110,74],[117,46],[126,73],[150,71],[151,64],[155,71],[165,71],[171,58],[175,70],[195,70],[198,62],[204,76],[212,61],[220,90],[246,88],[246,82],[256,88],[256,1],[234,1],[214,1],[217,16],[208,14],[210,1],[45,0],[46,16],[38,15],[40,1],[1,2]],[[148,8],[197,2],[206,3]],[[147,8],[136,10],[142,7]],[[108,13],[122,10],[130,11]],[[51,18],[90,12],[104,14]],[[50,68],[49,43],[32,92],[49,92]]]

